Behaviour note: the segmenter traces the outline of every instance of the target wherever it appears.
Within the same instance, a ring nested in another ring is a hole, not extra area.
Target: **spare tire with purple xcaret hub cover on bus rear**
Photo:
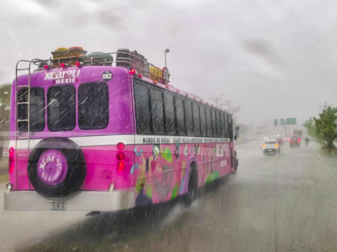
[[[67,196],[81,188],[85,175],[83,152],[68,138],[45,138],[29,155],[28,177],[40,195]]]

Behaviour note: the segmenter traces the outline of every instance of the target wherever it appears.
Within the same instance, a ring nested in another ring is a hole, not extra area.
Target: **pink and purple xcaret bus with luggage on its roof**
[[[52,54],[17,64],[5,209],[191,203],[198,187],[236,173],[231,114],[174,88],[167,68],[127,49]]]

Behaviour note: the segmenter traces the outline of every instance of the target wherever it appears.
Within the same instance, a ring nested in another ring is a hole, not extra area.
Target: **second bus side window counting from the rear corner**
[[[159,90],[151,89],[151,115],[154,133],[165,133],[163,96]]]

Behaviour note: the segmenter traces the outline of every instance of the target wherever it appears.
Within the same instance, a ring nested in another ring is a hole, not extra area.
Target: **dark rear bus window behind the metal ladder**
[[[28,88],[21,88],[18,91],[18,102],[28,102]],[[29,131],[42,131],[45,125],[45,100],[44,89],[42,87],[30,88],[30,108],[29,108]],[[18,119],[28,119],[28,105],[18,105]],[[28,130],[28,122],[18,122],[19,131]]]

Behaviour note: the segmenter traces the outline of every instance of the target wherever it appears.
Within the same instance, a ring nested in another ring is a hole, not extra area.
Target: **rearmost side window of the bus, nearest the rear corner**
[[[149,89],[137,82],[134,83],[134,107],[136,128],[138,134],[151,133],[151,116],[149,104]]]

